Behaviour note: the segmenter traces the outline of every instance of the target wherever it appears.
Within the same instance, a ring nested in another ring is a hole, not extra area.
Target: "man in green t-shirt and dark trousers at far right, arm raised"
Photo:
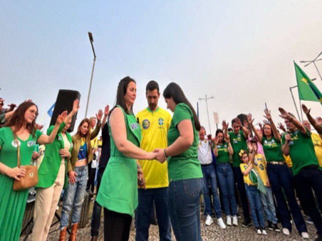
[[[312,189],[320,205],[322,204],[322,170],[318,165],[309,131],[291,114],[279,108],[281,117],[289,133],[282,137],[282,151],[290,155],[294,181],[307,211],[317,229],[318,239],[322,240],[322,217],[316,207]]]

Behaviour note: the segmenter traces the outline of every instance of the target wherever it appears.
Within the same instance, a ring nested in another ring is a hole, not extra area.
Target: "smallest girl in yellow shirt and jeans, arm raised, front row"
[[[249,161],[247,152],[245,150],[240,150],[239,158],[243,163],[241,163],[239,167],[241,173],[243,173],[244,175],[246,194],[250,204],[251,215],[254,221],[255,230],[258,234],[267,235],[267,232],[265,230],[265,220],[260,191],[257,189],[257,185],[254,184],[250,179],[250,172],[252,171],[254,165],[254,157],[255,152],[251,154],[251,161]]]

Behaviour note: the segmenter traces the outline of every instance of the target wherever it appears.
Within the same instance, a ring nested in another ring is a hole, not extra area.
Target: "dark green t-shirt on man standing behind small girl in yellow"
[[[233,132],[228,133],[230,138],[230,143],[232,146],[233,154],[232,154],[232,166],[239,167],[241,161],[239,158],[239,152],[241,149],[248,152],[246,138],[244,137],[243,131],[239,131],[236,135]]]

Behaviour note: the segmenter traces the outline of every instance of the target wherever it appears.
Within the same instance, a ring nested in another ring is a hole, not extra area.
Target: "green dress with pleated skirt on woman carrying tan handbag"
[[[28,140],[20,142],[20,163],[22,166],[30,165],[32,154],[42,133],[37,130],[35,137],[29,136]],[[17,144],[11,128],[0,129],[0,162],[10,168],[18,166]],[[0,174],[0,240],[19,240],[22,221],[27,204],[29,189],[14,191],[14,179]]]

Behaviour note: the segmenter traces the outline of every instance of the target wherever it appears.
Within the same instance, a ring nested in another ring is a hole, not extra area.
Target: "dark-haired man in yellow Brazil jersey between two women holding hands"
[[[171,123],[170,113],[158,107],[160,97],[157,82],[151,80],[146,85],[148,107],[137,113],[136,119],[141,126],[142,141],[140,148],[151,152],[155,148],[167,147],[167,133]],[[147,241],[150,226],[150,214],[155,204],[160,240],[171,239],[171,224],[168,210],[168,164],[156,160],[139,160],[146,189],[138,189],[138,207],[136,209],[136,241]]]

